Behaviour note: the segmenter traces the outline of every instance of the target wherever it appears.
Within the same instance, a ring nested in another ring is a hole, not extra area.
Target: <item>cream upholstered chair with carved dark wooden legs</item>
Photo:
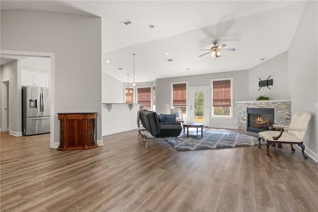
[[[311,114],[309,112],[296,112],[289,126],[286,125],[275,125],[275,129],[280,129],[279,131],[262,131],[258,133],[258,141],[260,148],[260,140],[266,141],[267,155],[269,155],[268,147],[275,143],[288,143],[290,144],[292,151],[295,151],[293,144],[297,144],[302,148],[304,158],[308,158],[305,155],[305,145],[303,144],[304,137],[307,131],[308,123],[311,119]]]

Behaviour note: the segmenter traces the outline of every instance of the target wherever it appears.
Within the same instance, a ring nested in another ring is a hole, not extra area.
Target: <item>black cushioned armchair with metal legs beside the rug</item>
[[[154,111],[143,110],[140,111],[140,119],[142,125],[146,130],[154,137],[149,138],[146,134],[143,134],[144,141],[147,141],[146,149],[148,147],[148,141],[154,140],[169,140],[178,139],[182,131],[180,122],[162,122],[159,123],[158,115]],[[176,141],[177,142],[177,141]]]

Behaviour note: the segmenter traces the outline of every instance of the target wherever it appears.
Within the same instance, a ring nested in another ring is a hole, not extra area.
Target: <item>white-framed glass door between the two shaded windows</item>
[[[190,87],[190,122],[209,125],[209,86]]]

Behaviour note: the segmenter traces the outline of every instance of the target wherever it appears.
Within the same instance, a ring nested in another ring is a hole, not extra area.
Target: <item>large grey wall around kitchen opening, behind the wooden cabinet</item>
[[[55,112],[98,112],[101,140],[101,18],[30,9],[1,10],[2,50],[55,54]],[[59,142],[57,114],[55,142]]]

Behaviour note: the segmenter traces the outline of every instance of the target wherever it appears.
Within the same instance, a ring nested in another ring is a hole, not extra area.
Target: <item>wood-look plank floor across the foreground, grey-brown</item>
[[[1,212],[317,212],[318,163],[266,146],[178,152],[137,130],[95,149],[0,133]],[[306,150],[305,150],[306,151]]]

